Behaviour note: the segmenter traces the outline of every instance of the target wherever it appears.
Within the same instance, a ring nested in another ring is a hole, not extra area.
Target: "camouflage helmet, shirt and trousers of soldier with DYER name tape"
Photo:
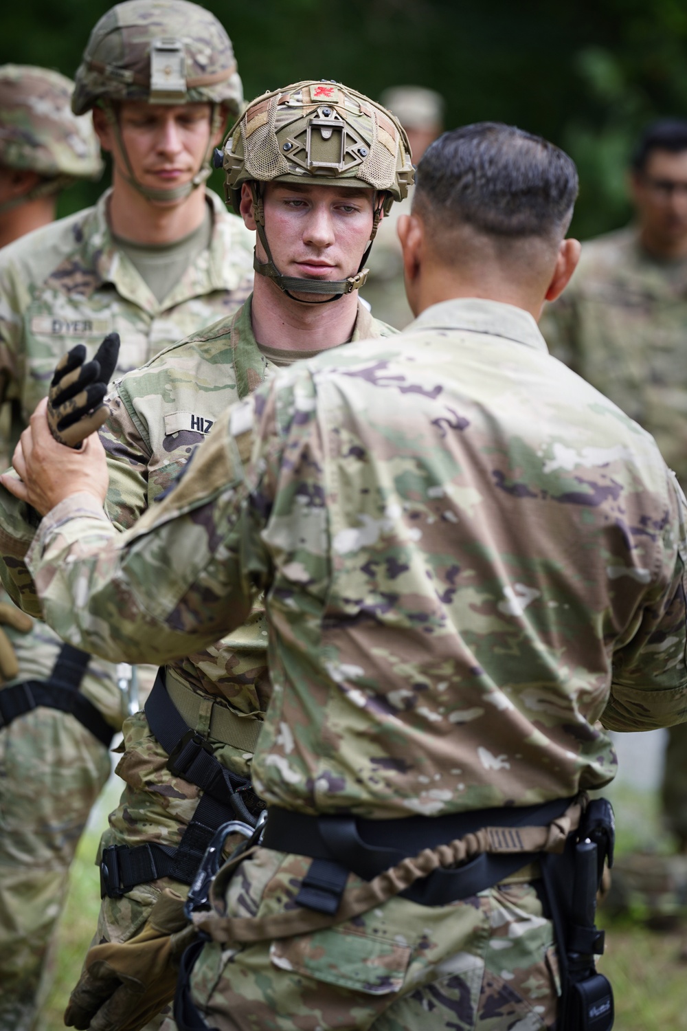
[[[184,40],[181,76],[187,89],[172,102],[210,103],[213,124],[220,120],[220,104],[238,113],[241,82],[231,42],[216,19],[182,0],[164,0],[152,8],[154,16],[149,3],[133,0],[98,23],[76,75],[75,113],[96,101],[107,107],[112,99],[160,99],[150,81],[151,35]],[[194,56],[202,67],[194,64]],[[206,164],[191,189],[203,182]],[[11,403],[9,454],[47,393],[58,359],[74,344],[84,343],[92,357],[106,333],[118,332],[122,375],[233,312],[249,293],[253,236],[217,197],[207,194],[209,246],[159,302],[112,239],[109,196],[15,241],[0,256],[0,396]],[[20,674],[3,687],[45,680],[60,652],[59,638],[42,624],[27,635],[8,633]],[[81,691],[113,728],[122,727],[126,705],[114,666],[92,662]],[[69,864],[110,764],[101,741],[72,716],[50,708],[15,719],[0,734],[0,1028],[25,1031],[48,987],[44,959]]]

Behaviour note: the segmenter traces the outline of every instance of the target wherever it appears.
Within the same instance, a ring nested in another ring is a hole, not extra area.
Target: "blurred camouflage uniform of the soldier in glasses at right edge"
[[[655,437],[687,487],[687,261],[652,258],[633,228],[585,243],[542,328],[554,355]],[[663,805],[687,844],[687,729],[668,733]]]

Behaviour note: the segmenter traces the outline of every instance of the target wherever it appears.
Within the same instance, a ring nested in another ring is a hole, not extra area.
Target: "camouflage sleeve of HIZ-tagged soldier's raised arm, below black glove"
[[[105,511],[117,530],[128,530],[148,506],[150,448],[117,388],[107,404],[110,413],[99,434],[109,475]]]

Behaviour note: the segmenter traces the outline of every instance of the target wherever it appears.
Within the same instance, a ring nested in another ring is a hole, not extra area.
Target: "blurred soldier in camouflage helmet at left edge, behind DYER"
[[[72,113],[73,89],[46,68],[0,67],[0,247],[53,222],[65,187],[102,174],[93,123]]]

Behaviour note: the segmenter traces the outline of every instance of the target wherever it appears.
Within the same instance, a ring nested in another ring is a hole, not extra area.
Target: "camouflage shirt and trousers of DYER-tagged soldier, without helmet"
[[[210,248],[159,304],[112,243],[105,214],[108,196],[95,208],[18,240],[0,257],[0,370],[3,397],[12,402],[12,446],[47,393],[56,362],[75,343],[85,343],[92,354],[105,333],[118,332],[121,375],[199,326],[231,312],[248,293],[253,236],[227,213],[217,197],[208,194],[214,219]],[[10,683],[46,678],[61,646],[53,631],[37,623],[29,634],[10,629],[7,633],[20,663],[20,675]],[[109,664],[91,663],[81,690],[119,729],[126,706],[115,672]],[[34,751],[39,739],[51,741],[49,751],[44,743]],[[32,1010],[41,956],[61,909],[58,900],[64,899],[69,864],[110,766],[103,745],[73,718],[55,709],[15,720],[0,734],[0,750],[5,774],[0,794],[0,979],[5,986],[22,985],[21,1001],[10,1001],[3,989],[0,1028],[14,1031],[30,1026],[23,1023],[29,1017],[20,1012]],[[36,768],[36,755],[42,756],[43,772]],[[73,793],[65,769],[72,771]],[[51,790],[43,787],[39,793],[34,778],[48,780],[48,770]],[[42,801],[40,811],[36,805],[27,807],[24,789],[20,791],[21,785],[29,784],[32,797]],[[45,827],[50,830],[45,832]],[[29,877],[35,882],[35,907],[26,901]],[[46,897],[51,900],[48,907]]]

